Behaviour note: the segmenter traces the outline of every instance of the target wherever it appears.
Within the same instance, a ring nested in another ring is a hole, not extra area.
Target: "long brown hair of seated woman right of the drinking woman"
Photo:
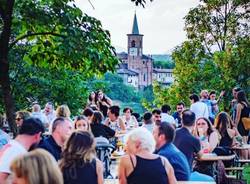
[[[226,112],[220,112],[215,118],[215,128],[223,137],[227,133],[227,128],[233,128],[233,121]]]

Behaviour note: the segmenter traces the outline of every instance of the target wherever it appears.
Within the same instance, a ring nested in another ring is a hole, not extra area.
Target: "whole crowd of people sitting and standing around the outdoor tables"
[[[54,110],[48,102],[41,110],[33,103],[32,112],[16,112],[14,139],[0,132],[0,183],[103,183],[95,138],[117,146],[121,134],[126,134],[126,154],[117,171],[121,184],[214,181],[195,158],[206,153],[227,155],[233,145],[247,144],[249,139],[242,121],[250,113],[245,92],[233,89],[231,112],[220,111],[223,95],[216,98],[215,91],[202,90],[190,95],[189,108],[180,102],[171,114],[165,104],[145,112],[141,121],[130,107],[120,114],[120,107],[101,90],[90,93],[86,108],[74,118],[67,105]],[[249,150],[240,154],[250,158]]]

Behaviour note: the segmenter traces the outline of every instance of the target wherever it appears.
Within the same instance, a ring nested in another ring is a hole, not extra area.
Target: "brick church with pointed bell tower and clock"
[[[127,53],[117,53],[118,58],[121,60],[117,73],[123,78],[124,83],[137,89],[144,89],[152,85],[153,80],[158,81],[158,72],[162,76],[165,70],[155,70],[152,57],[143,54],[143,35],[139,33],[136,14],[134,15],[132,33],[127,34],[127,36]],[[159,82],[164,83],[166,81]]]

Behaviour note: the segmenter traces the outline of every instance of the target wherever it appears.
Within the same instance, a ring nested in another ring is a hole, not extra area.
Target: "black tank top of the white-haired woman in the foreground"
[[[151,159],[141,158],[136,155],[136,166],[134,167],[132,173],[127,177],[127,183],[128,184],[168,183],[167,173],[164,165],[162,164],[161,158],[158,157],[156,159],[151,160]]]

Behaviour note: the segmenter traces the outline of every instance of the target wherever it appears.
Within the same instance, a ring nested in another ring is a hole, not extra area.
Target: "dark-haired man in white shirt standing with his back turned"
[[[195,113],[196,120],[200,117],[207,118],[209,117],[208,107],[205,103],[199,101],[199,96],[192,94],[189,99],[191,100],[192,105],[190,110]]]

